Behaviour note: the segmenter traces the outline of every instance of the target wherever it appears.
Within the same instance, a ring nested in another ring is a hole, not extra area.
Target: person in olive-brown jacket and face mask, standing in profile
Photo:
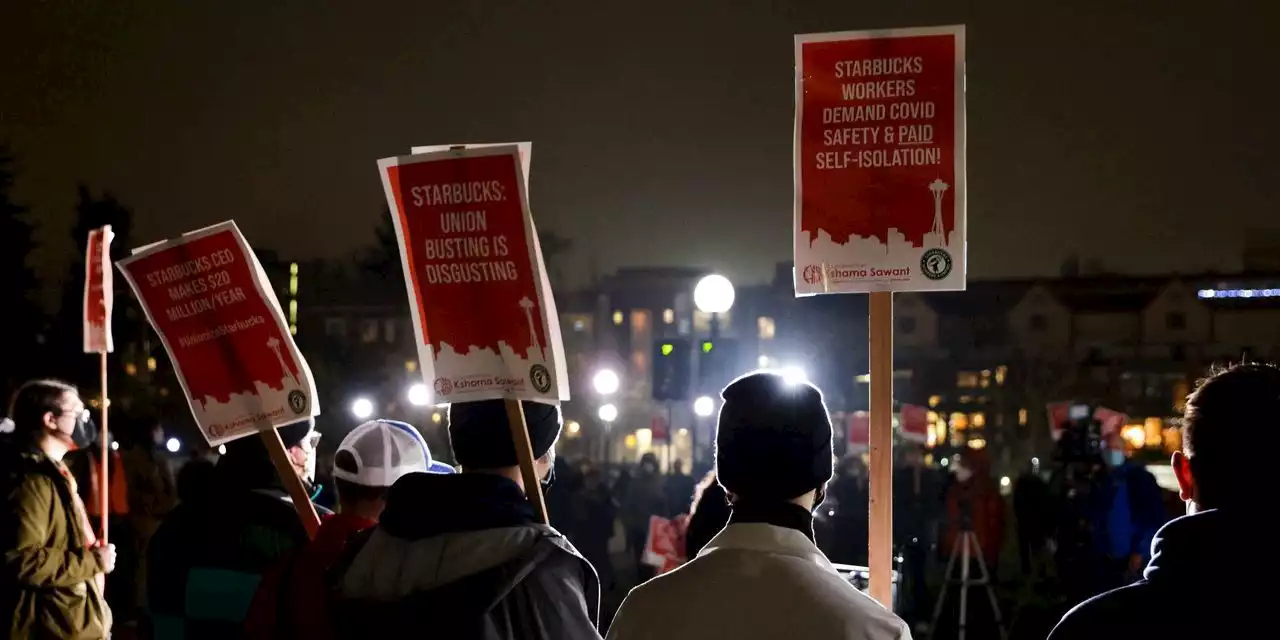
[[[96,429],[74,387],[22,385],[0,440],[0,611],[9,637],[101,639],[111,631],[104,576],[115,547],[97,543],[63,457],[88,447]]]

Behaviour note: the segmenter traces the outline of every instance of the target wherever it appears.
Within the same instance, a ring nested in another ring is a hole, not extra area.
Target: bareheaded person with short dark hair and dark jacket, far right
[[[1183,451],[1172,456],[1188,515],[1156,534],[1142,580],[1079,604],[1050,639],[1266,635],[1271,591],[1256,585],[1280,564],[1265,538],[1274,472],[1240,445],[1265,442],[1277,415],[1274,365],[1234,365],[1203,380],[1187,398]]]

